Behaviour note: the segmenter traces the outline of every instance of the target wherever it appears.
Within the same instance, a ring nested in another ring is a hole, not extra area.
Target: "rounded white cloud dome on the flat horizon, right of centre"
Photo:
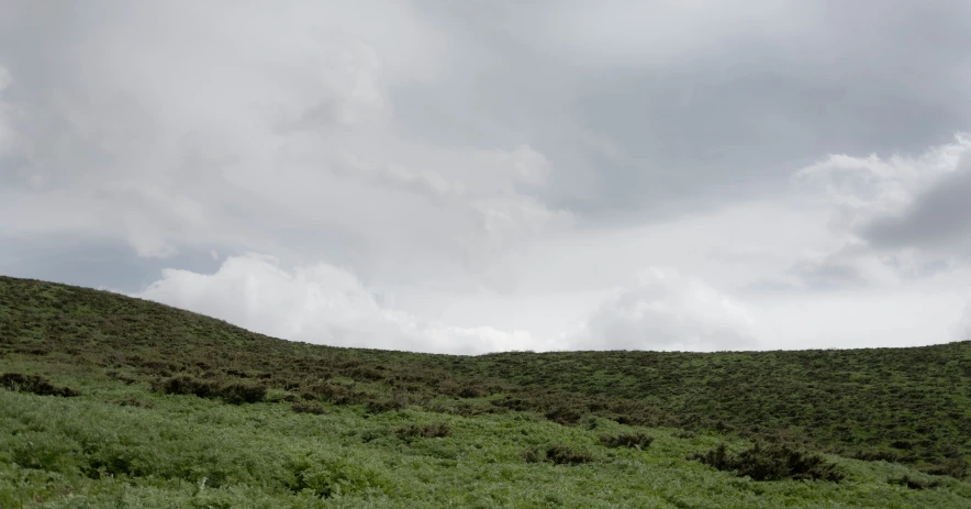
[[[744,305],[676,270],[652,267],[603,302],[572,338],[576,350],[755,350]]]

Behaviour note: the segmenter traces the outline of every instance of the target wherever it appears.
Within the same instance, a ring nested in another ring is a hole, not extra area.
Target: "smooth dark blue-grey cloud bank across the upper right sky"
[[[548,196],[588,219],[773,192],[821,154],[914,153],[971,120],[964,2],[708,4],[724,23],[688,4],[425,4],[460,59],[444,82],[392,90],[399,118],[531,143],[558,168]]]

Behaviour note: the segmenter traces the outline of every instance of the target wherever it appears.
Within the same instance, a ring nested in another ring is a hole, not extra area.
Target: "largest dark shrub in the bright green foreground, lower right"
[[[725,444],[690,460],[711,465],[719,471],[734,472],[739,477],[754,480],[818,479],[842,480],[844,474],[836,465],[827,463],[817,454],[808,454],[786,444],[769,446],[756,442],[755,446],[738,454],[728,454]]]

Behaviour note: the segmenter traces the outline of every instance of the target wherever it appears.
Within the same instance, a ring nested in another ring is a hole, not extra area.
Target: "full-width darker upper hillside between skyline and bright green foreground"
[[[673,430],[671,436],[740,436],[955,479],[968,477],[971,460],[967,341],[768,352],[425,354],[279,340],[120,294],[0,276],[0,374],[14,372],[43,375],[52,387],[81,395],[123,386],[231,405],[281,401],[311,414],[328,408],[375,419],[412,411],[467,419],[523,414],[578,432],[620,425]],[[425,432],[410,430],[402,433]],[[545,450],[531,454],[548,457]]]

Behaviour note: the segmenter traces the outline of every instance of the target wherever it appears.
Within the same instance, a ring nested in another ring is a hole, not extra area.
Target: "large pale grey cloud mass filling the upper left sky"
[[[398,124],[392,90],[434,79],[446,58],[413,5],[221,5],[96,2],[71,30],[20,5],[36,30],[11,27],[22,49],[0,54],[0,113],[20,112],[0,117],[14,133],[4,232],[447,279],[574,222],[539,196],[554,165],[528,143],[437,143]]]

